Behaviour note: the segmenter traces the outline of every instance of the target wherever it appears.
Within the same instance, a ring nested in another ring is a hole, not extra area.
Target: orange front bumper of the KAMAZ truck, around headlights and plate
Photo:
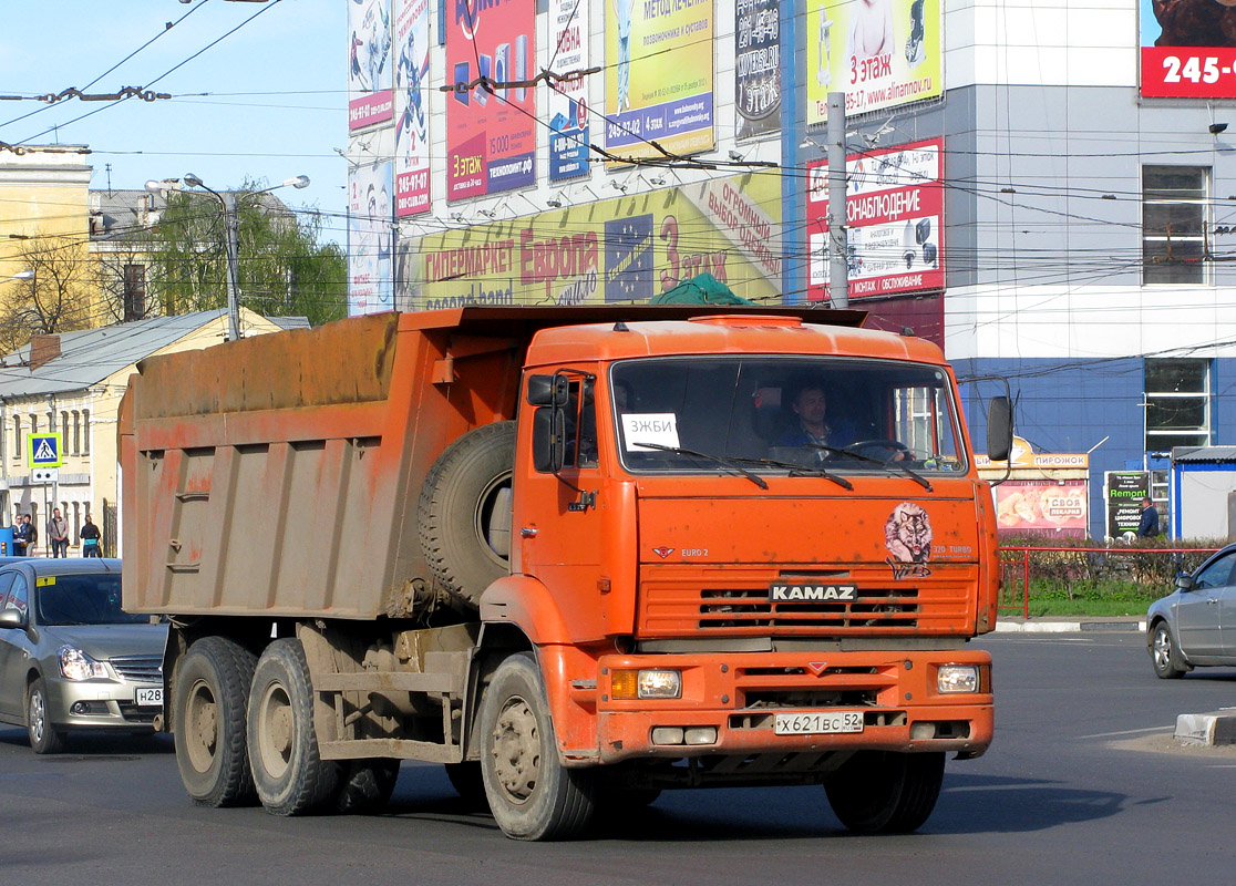
[[[994,729],[991,656],[983,651],[606,656],[597,681],[599,761],[839,750],[955,751],[979,756]],[[979,692],[942,694],[941,665],[976,665]],[[616,699],[616,670],[682,671],[682,697]],[[857,711],[859,733],[777,735],[779,713]],[[677,730],[707,744],[666,743]],[[654,730],[655,734],[654,734]],[[658,740],[660,739],[660,740]]]

